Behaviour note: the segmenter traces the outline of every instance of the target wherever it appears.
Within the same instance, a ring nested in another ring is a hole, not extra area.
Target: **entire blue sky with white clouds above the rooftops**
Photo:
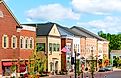
[[[95,34],[121,33],[121,0],[5,0],[22,24],[54,22]]]

